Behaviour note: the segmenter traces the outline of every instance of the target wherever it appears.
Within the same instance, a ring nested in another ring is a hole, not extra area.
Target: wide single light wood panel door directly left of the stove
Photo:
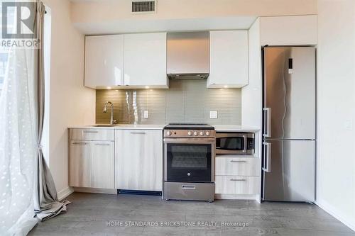
[[[161,130],[116,130],[116,189],[162,191]]]

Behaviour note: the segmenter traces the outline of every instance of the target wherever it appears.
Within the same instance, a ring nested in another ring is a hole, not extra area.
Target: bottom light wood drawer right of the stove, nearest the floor
[[[219,194],[258,194],[258,176],[215,176],[215,193]]]

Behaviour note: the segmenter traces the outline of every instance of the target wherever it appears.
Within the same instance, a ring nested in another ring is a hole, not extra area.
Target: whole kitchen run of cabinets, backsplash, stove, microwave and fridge
[[[250,128],[239,126],[245,93],[240,88],[249,86],[252,35],[248,30],[87,36],[84,86],[106,90],[97,90],[99,124],[70,128],[70,186],[74,191],[89,192],[95,191],[77,188],[108,193],[147,191],[165,200],[213,202],[216,194],[216,198],[253,199],[259,203],[315,201],[315,143],[291,142],[290,146],[288,140],[315,140],[312,45],[317,44],[317,38],[311,33],[316,31],[317,17],[258,18],[251,28],[262,25],[268,33],[268,28],[278,28],[285,21],[294,29],[307,30],[305,34],[310,37],[294,43],[297,38],[274,30],[285,38],[282,45],[302,47],[271,47],[276,42],[261,38],[268,45],[263,53],[260,51],[266,71],[261,91],[265,105],[255,100],[249,104],[254,108],[263,106],[259,123]],[[314,28],[303,29],[305,23]],[[283,79],[286,71],[291,82]],[[258,81],[261,84],[263,79]],[[268,85],[284,82],[285,91]],[[305,86],[309,88],[307,98]],[[308,116],[304,115],[305,109]],[[278,127],[281,123],[284,125]],[[272,150],[271,142],[261,136],[285,139],[286,143],[274,143],[279,150]],[[294,153],[293,146],[306,150]],[[283,153],[276,156],[277,152]],[[301,171],[277,162],[293,162],[293,167],[307,163],[309,168]],[[276,172],[283,168],[290,170]],[[263,180],[265,189],[261,187]],[[278,191],[270,187],[282,182]],[[307,182],[307,188],[295,189]],[[292,196],[295,194],[298,196]]]

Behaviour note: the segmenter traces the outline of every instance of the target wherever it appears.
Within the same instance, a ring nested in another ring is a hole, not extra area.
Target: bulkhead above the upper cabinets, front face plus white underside
[[[85,34],[250,28],[257,16],[317,13],[317,0],[158,0],[156,13],[131,13],[131,0],[72,0]]]

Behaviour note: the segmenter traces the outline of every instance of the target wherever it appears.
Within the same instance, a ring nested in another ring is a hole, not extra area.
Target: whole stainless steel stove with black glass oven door
[[[165,200],[214,201],[215,147],[215,131],[210,125],[165,126]]]

